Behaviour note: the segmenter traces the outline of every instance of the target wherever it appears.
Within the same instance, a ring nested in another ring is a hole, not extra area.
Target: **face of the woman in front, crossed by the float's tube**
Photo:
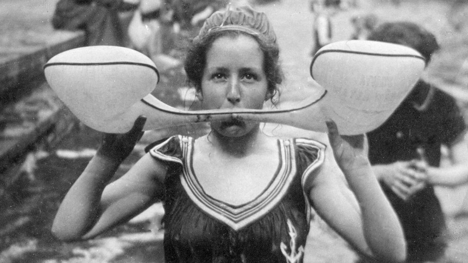
[[[263,70],[263,52],[253,37],[239,35],[216,39],[206,54],[201,83],[205,110],[262,109],[268,82]],[[224,136],[242,136],[257,124],[241,121],[213,122],[212,129]]]

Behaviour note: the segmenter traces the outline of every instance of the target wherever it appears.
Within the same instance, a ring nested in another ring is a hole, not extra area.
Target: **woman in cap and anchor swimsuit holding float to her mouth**
[[[205,109],[262,109],[282,81],[278,58],[265,14],[240,7],[205,22],[185,69]],[[56,236],[92,238],[162,200],[166,262],[296,263],[304,256],[312,204],[359,252],[404,259],[401,226],[370,169],[363,135],[340,137],[328,122],[347,182],[322,143],[269,137],[260,124],[233,117],[212,122],[200,138],[174,136],[148,146],[108,184],[143,124],[139,118],[129,133],[105,137],[59,208]]]

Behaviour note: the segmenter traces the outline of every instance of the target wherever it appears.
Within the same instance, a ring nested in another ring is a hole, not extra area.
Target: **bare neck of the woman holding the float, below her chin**
[[[221,151],[230,153],[237,157],[247,156],[259,149],[262,134],[260,125],[256,125],[247,134],[239,137],[228,137],[212,130],[207,135],[208,141]]]

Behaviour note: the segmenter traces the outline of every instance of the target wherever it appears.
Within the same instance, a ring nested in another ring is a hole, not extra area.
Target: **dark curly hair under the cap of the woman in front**
[[[283,71],[279,63],[278,44],[276,42],[269,43],[267,41],[263,41],[260,37],[241,31],[216,31],[210,33],[206,37],[194,40],[188,47],[185,58],[184,69],[187,73],[188,82],[197,91],[201,91],[202,77],[206,66],[206,54],[212,47],[213,42],[219,37],[238,37],[240,34],[254,37],[260,46],[260,49],[263,51],[263,70],[265,71],[267,78],[267,90],[271,95],[271,102],[274,103],[273,97],[280,94],[278,85],[283,81]]]

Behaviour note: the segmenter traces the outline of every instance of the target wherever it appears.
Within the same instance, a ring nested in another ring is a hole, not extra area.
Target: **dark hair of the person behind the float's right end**
[[[409,46],[424,56],[426,64],[431,60],[432,54],[440,49],[436,37],[413,22],[383,23],[367,39]]]

